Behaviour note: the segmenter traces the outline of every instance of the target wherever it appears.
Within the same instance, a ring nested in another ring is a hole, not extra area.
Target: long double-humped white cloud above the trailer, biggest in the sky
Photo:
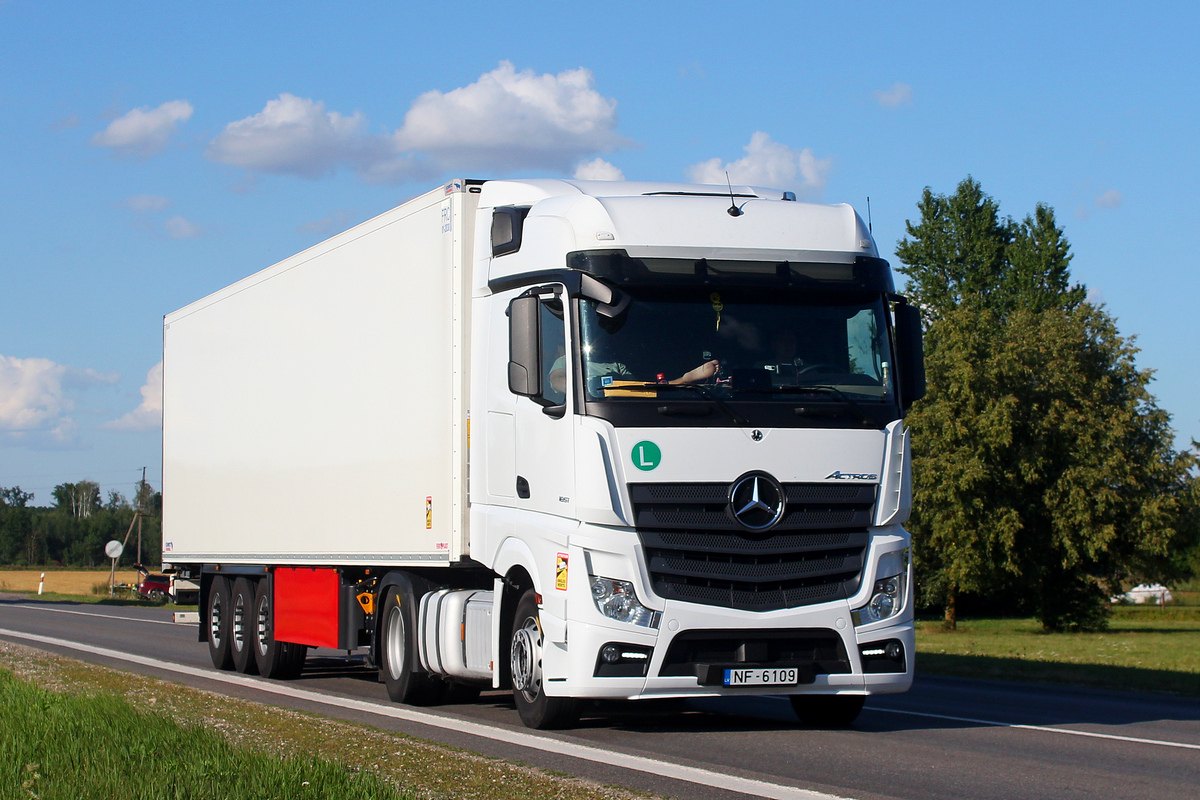
[[[370,182],[426,179],[446,170],[570,173],[581,160],[629,146],[617,102],[592,72],[518,72],[509,61],[449,92],[427,91],[394,133],[371,133],[361,113],[343,116],[294,95],[226,126],[212,160],[256,173],[322,178],[353,169]]]

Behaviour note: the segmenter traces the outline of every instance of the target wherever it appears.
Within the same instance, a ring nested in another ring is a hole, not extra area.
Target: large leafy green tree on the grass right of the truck
[[[950,627],[960,593],[1001,590],[1048,630],[1098,627],[1105,587],[1180,540],[1194,459],[1136,348],[1070,284],[1052,210],[1002,221],[970,178],[919,207],[896,252],[929,323],[908,416],[923,599]]]

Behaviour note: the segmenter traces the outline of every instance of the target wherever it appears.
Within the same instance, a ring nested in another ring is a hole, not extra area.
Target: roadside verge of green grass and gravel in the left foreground
[[[0,709],[2,798],[648,796],[5,642]]]

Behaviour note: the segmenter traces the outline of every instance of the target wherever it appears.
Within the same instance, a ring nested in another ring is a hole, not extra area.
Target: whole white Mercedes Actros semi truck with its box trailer
[[[850,206],[452,181],[163,329],[163,563],[222,669],[365,652],[534,728],[912,682],[920,324]]]

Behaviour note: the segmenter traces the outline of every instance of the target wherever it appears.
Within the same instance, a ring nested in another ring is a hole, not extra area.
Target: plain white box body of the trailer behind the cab
[[[468,552],[475,199],[425,194],[166,318],[172,563]]]

